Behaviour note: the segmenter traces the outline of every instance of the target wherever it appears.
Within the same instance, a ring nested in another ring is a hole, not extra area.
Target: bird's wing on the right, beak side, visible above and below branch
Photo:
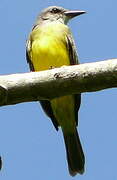
[[[69,50],[70,64],[71,65],[79,64],[78,54],[71,32],[67,33],[66,41],[67,41],[67,48]],[[75,94],[74,98],[75,98],[75,120],[76,120],[76,125],[78,125],[78,110],[81,104],[81,94]]]

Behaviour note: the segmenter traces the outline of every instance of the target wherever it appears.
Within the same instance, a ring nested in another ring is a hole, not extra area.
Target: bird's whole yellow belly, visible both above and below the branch
[[[70,65],[65,37],[44,35],[32,43],[31,61],[35,71]],[[71,131],[75,126],[74,97],[64,96],[51,100],[53,113],[61,127]]]

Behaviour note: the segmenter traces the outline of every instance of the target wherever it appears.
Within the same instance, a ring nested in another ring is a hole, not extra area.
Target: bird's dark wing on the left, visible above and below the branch
[[[29,36],[29,39],[26,42],[26,59],[27,59],[27,63],[29,64],[30,70],[35,71],[33,63],[31,61],[31,56],[30,56],[31,47],[32,47],[32,40],[31,40],[31,37]],[[44,112],[51,118],[55,129],[58,130],[58,122],[53,114],[50,102],[47,100],[41,100],[40,104]]]

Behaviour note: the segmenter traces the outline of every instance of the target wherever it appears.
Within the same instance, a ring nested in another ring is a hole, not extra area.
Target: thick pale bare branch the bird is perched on
[[[0,106],[117,87],[117,59],[0,76]]]

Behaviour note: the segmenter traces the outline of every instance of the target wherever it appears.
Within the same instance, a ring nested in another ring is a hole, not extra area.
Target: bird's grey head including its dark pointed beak
[[[42,21],[59,21],[67,24],[70,19],[84,13],[85,11],[70,11],[59,6],[50,6],[40,13],[40,15],[37,17],[36,24],[39,24]]]

